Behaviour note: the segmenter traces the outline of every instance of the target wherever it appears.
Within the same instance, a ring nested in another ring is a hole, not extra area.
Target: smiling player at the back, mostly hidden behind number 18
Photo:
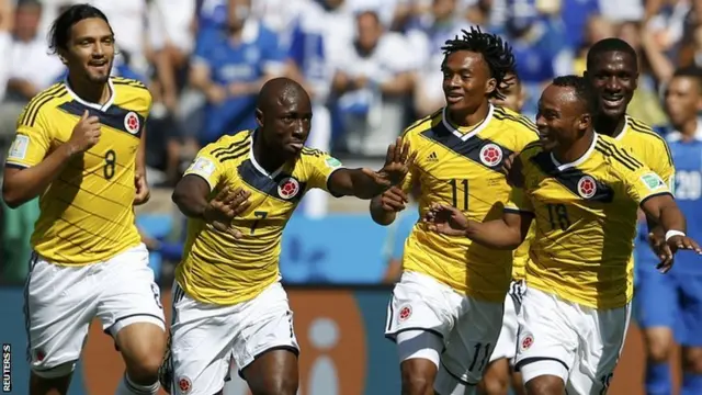
[[[585,77],[599,97],[595,131],[619,140],[630,153],[663,178],[672,190],[675,168],[666,140],[648,125],[626,114],[638,84],[638,56],[625,41],[601,40],[588,50]],[[664,236],[648,218],[652,244]],[[656,232],[657,229],[657,232]]]

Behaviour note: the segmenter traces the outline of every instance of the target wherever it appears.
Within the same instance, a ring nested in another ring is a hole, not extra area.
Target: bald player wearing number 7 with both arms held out
[[[291,79],[263,86],[256,119],[257,129],[204,147],[173,192],[190,218],[161,376],[163,387],[172,386],[176,394],[218,393],[231,358],[253,394],[296,394],[298,346],[279,270],[285,224],[312,188],[371,199],[408,171],[409,148],[401,142],[388,148],[378,172],[346,169],[306,148],[312,104]],[[216,229],[208,224],[207,200],[229,185],[250,193],[250,207]]]

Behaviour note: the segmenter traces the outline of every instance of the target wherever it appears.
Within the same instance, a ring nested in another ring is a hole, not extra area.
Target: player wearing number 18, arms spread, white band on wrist
[[[545,89],[541,144],[520,154],[523,188],[502,218],[471,221],[446,204],[427,214],[432,230],[507,250],[535,223],[517,353],[530,395],[607,393],[629,326],[638,206],[666,230],[666,267],[678,249],[702,253],[660,177],[593,131],[590,89],[575,76]]]

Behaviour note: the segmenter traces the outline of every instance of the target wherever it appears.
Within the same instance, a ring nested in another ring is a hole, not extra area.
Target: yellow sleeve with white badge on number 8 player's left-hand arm
[[[30,168],[38,165],[49,151],[52,135],[46,115],[39,109],[33,114],[30,102],[18,119],[16,136],[10,146],[5,166]]]

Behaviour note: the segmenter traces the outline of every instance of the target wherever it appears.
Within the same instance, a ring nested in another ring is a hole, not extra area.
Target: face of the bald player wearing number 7
[[[287,88],[264,109],[257,109],[265,146],[275,155],[292,158],[302,151],[312,126],[312,102],[302,89]]]

